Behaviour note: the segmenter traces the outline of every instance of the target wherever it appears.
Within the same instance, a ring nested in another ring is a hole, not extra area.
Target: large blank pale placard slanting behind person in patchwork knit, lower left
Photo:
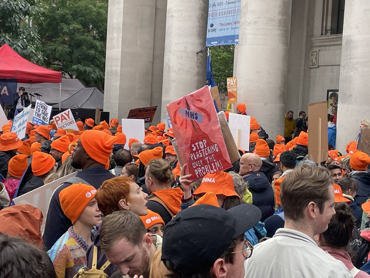
[[[75,175],[77,175],[77,172],[73,172],[53,182],[49,182],[46,185],[43,185],[26,194],[23,194],[17,198],[14,198],[13,202],[15,205],[30,204],[40,209],[43,212],[43,216],[44,216],[44,221],[43,221],[43,224],[41,225],[41,232],[43,232],[51,196],[53,196],[55,189],[57,189],[59,185],[67,181],[67,179],[74,177]]]

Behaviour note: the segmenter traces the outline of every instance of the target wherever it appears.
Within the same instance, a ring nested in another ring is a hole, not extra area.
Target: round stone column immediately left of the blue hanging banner
[[[166,105],[203,87],[206,80],[205,47],[208,1],[168,0],[162,86],[161,120]]]

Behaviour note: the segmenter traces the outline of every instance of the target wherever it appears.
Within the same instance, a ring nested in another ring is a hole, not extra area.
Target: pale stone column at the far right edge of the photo
[[[370,118],[370,1],[346,0],[340,62],[336,148],[356,139],[360,122]]]

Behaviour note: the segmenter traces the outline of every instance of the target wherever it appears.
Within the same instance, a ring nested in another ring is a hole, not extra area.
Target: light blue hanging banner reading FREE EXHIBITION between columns
[[[242,0],[209,0],[206,46],[239,42]]]

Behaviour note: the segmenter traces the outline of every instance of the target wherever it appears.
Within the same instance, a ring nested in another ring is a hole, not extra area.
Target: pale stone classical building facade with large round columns
[[[269,131],[284,115],[307,112],[339,89],[337,147],[344,150],[368,115],[368,0],[242,0],[234,58],[238,102]],[[205,84],[208,1],[111,0],[108,7],[104,110],[165,105]]]

